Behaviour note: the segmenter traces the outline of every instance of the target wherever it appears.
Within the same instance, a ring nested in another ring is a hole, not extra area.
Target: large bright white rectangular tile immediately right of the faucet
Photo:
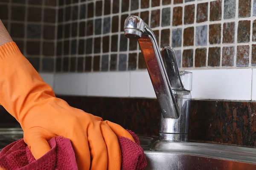
[[[192,99],[251,100],[252,69],[188,70]]]

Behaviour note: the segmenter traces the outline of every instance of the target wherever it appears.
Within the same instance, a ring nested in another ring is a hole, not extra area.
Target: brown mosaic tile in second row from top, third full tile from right
[[[221,24],[209,25],[209,43],[210,44],[221,43]]]

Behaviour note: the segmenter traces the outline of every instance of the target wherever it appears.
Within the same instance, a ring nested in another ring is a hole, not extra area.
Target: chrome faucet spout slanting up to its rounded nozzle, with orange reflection
[[[175,102],[169,78],[153,31],[137,16],[126,18],[124,31],[126,37],[137,39],[139,42],[163,117],[178,119],[180,111]]]

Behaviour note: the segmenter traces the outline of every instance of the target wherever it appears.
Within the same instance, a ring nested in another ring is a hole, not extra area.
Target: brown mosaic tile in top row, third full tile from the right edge
[[[215,0],[210,2],[210,21],[221,20],[221,3],[222,0]]]

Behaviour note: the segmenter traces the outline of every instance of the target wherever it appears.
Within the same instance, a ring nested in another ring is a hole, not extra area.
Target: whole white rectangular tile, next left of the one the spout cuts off
[[[128,97],[130,88],[130,73],[101,72],[88,73],[88,96]]]

